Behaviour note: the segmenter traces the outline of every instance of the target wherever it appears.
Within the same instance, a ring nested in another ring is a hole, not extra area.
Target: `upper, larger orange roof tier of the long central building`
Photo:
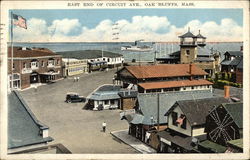
[[[126,66],[126,69],[139,78],[189,76],[190,64],[161,64],[147,66]],[[192,64],[192,75],[207,75],[205,71]]]

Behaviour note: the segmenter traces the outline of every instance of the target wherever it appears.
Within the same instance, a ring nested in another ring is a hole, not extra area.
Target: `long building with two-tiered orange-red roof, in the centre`
[[[139,93],[210,90],[208,74],[194,64],[158,64],[126,66],[117,72],[115,80],[124,88]]]

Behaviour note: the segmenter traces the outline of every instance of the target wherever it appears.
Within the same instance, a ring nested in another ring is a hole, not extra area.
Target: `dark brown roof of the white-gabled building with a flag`
[[[187,117],[191,126],[202,125],[206,122],[206,116],[209,111],[218,106],[221,103],[228,102],[227,99],[223,97],[205,98],[205,99],[195,99],[195,100],[181,100],[177,101],[176,104],[180,107],[181,111]],[[176,107],[174,105],[166,115],[169,115],[171,110]]]

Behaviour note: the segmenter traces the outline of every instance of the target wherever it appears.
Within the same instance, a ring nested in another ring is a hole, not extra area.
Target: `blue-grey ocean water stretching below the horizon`
[[[149,52],[134,52],[134,51],[122,51],[121,47],[125,45],[133,45],[133,42],[104,42],[104,43],[14,43],[14,46],[22,47],[43,47],[48,48],[54,52],[60,51],[74,51],[74,50],[104,50],[114,53],[120,53],[124,56],[126,62],[131,62],[132,59],[136,61],[153,61],[155,57],[166,57],[168,54],[178,51],[180,49],[179,43],[151,43],[143,42],[140,45],[152,46],[153,50]],[[206,48],[217,50],[223,54],[226,51],[239,51],[243,45],[242,42],[218,42],[218,43],[207,43]]]

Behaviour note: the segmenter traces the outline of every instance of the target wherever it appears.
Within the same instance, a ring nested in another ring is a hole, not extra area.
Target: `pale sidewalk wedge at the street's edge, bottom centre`
[[[156,150],[128,134],[128,130],[113,131],[111,134],[143,154],[156,153]]]

